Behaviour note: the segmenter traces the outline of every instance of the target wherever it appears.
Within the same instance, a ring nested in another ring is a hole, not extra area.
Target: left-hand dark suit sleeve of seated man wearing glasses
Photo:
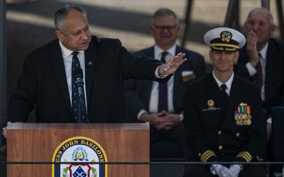
[[[124,95],[127,112],[131,119],[136,120],[139,111],[141,109],[146,110],[146,105],[135,91],[135,79],[126,79],[124,81]]]

